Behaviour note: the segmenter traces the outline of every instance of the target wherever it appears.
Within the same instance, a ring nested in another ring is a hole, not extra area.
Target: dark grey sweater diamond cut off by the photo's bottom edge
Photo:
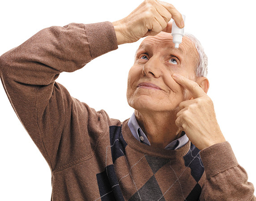
[[[129,201],[165,201],[155,176],[150,179],[129,199]]]

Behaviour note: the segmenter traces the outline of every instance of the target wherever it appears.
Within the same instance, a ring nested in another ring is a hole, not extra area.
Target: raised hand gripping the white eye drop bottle
[[[171,18],[179,28],[184,27],[182,15],[172,4],[159,0],[145,0],[127,17],[112,23],[117,43],[120,45],[136,42],[142,37],[153,36],[161,31],[171,33]]]

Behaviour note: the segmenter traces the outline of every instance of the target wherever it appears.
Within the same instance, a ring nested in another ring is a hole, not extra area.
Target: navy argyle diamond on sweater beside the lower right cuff
[[[191,143],[190,150],[186,155],[183,156],[185,166],[190,167],[191,175],[196,180],[196,182],[198,182],[201,179],[205,171],[203,162],[199,155],[199,151],[200,150],[197,149],[195,145]]]

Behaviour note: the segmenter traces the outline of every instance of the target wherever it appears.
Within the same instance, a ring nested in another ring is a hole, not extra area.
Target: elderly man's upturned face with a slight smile
[[[128,104],[138,111],[173,111],[191,96],[172,78],[173,73],[196,81],[196,47],[183,37],[175,49],[171,34],[145,38],[128,74]]]

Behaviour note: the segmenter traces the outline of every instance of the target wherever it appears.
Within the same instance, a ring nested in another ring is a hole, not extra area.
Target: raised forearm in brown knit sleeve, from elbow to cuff
[[[60,72],[76,71],[116,48],[115,31],[110,22],[53,26],[3,54],[0,71],[20,83],[47,85]]]

